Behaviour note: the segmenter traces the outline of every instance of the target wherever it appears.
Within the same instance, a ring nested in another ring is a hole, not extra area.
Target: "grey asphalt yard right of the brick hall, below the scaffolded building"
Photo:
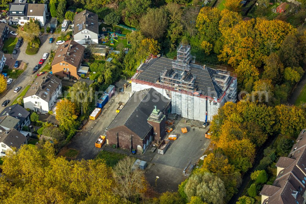
[[[174,126],[170,134],[177,134],[177,139],[170,141],[165,154],[156,153],[150,161],[151,164],[145,169],[145,175],[155,191],[177,191],[178,185],[187,178],[183,176],[183,170],[189,161],[192,160],[191,164],[196,163],[203,155],[210,140],[204,136],[208,129],[203,128],[201,124],[194,121],[192,125],[196,126],[190,126],[185,124],[185,119],[181,119]],[[182,127],[187,127],[188,132],[183,134]],[[159,179],[155,186],[156,176],[159,176]]]

